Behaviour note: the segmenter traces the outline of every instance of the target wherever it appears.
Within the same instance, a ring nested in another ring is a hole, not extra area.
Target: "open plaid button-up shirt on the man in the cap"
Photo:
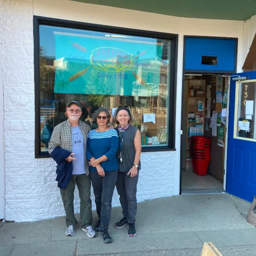
[[[84,144],[84,168],[86,175],[89,175],[89,165],[86,159],[86,141],[88,137],[88,133],[91,128],[84,122],[79,121],[79,128],[82,132],[83,144]],[[49,142],[48,151],[49,154],[53,152],[56,146],[60,146],[61,148],[72,152],[72,125],[69,120],[62,122],[57,125]]]

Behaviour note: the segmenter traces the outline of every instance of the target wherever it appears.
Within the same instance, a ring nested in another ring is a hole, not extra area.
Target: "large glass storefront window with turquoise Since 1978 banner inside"
[[[39,155],[47,152],[54,127],[66,120],[70,101],[81,103],[81,120],[92,129],[99,107],[113,114],[128,106],[142,146],[170,145],[172,38],[48,25],[39,25],[39,38]]]

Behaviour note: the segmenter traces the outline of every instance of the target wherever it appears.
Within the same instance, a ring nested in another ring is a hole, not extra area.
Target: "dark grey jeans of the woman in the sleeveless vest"
[[[120,196],[120,204],[123,209],[124,218],[128,219],[128,223],[135,223],[137,213],[137,183],[138,174],[131,178],[127,172],[118,172],[117,191]]]

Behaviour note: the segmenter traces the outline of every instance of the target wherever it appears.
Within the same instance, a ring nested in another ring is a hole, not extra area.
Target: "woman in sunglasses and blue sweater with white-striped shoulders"
[[[98,128],[88,134],[86,156],[90,163],[90,177],[95,196],[99,221],[95,231],[101,231],[104,243],[111,243],[108,233],[111,215],[113,192],[118,177],[118,161],[116,152],[119,138],[115,129],[110,129],[110,112],[107,109],[95,111],[94,122]]]

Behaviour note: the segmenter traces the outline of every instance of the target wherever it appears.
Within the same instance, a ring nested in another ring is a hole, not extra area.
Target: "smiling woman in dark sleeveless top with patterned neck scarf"
[[[140,170],[141,139],[139,130],[132,126],[132,116],[128,107],[119,107],[114,115],[118,125],[115,128],[119,135],[117,158],[119,161],[117,191],[123,209],[123,218],[118,221],[116,228],[128,225],[128,236],[134,237],[135,217],[137,213],[137,182]]]

